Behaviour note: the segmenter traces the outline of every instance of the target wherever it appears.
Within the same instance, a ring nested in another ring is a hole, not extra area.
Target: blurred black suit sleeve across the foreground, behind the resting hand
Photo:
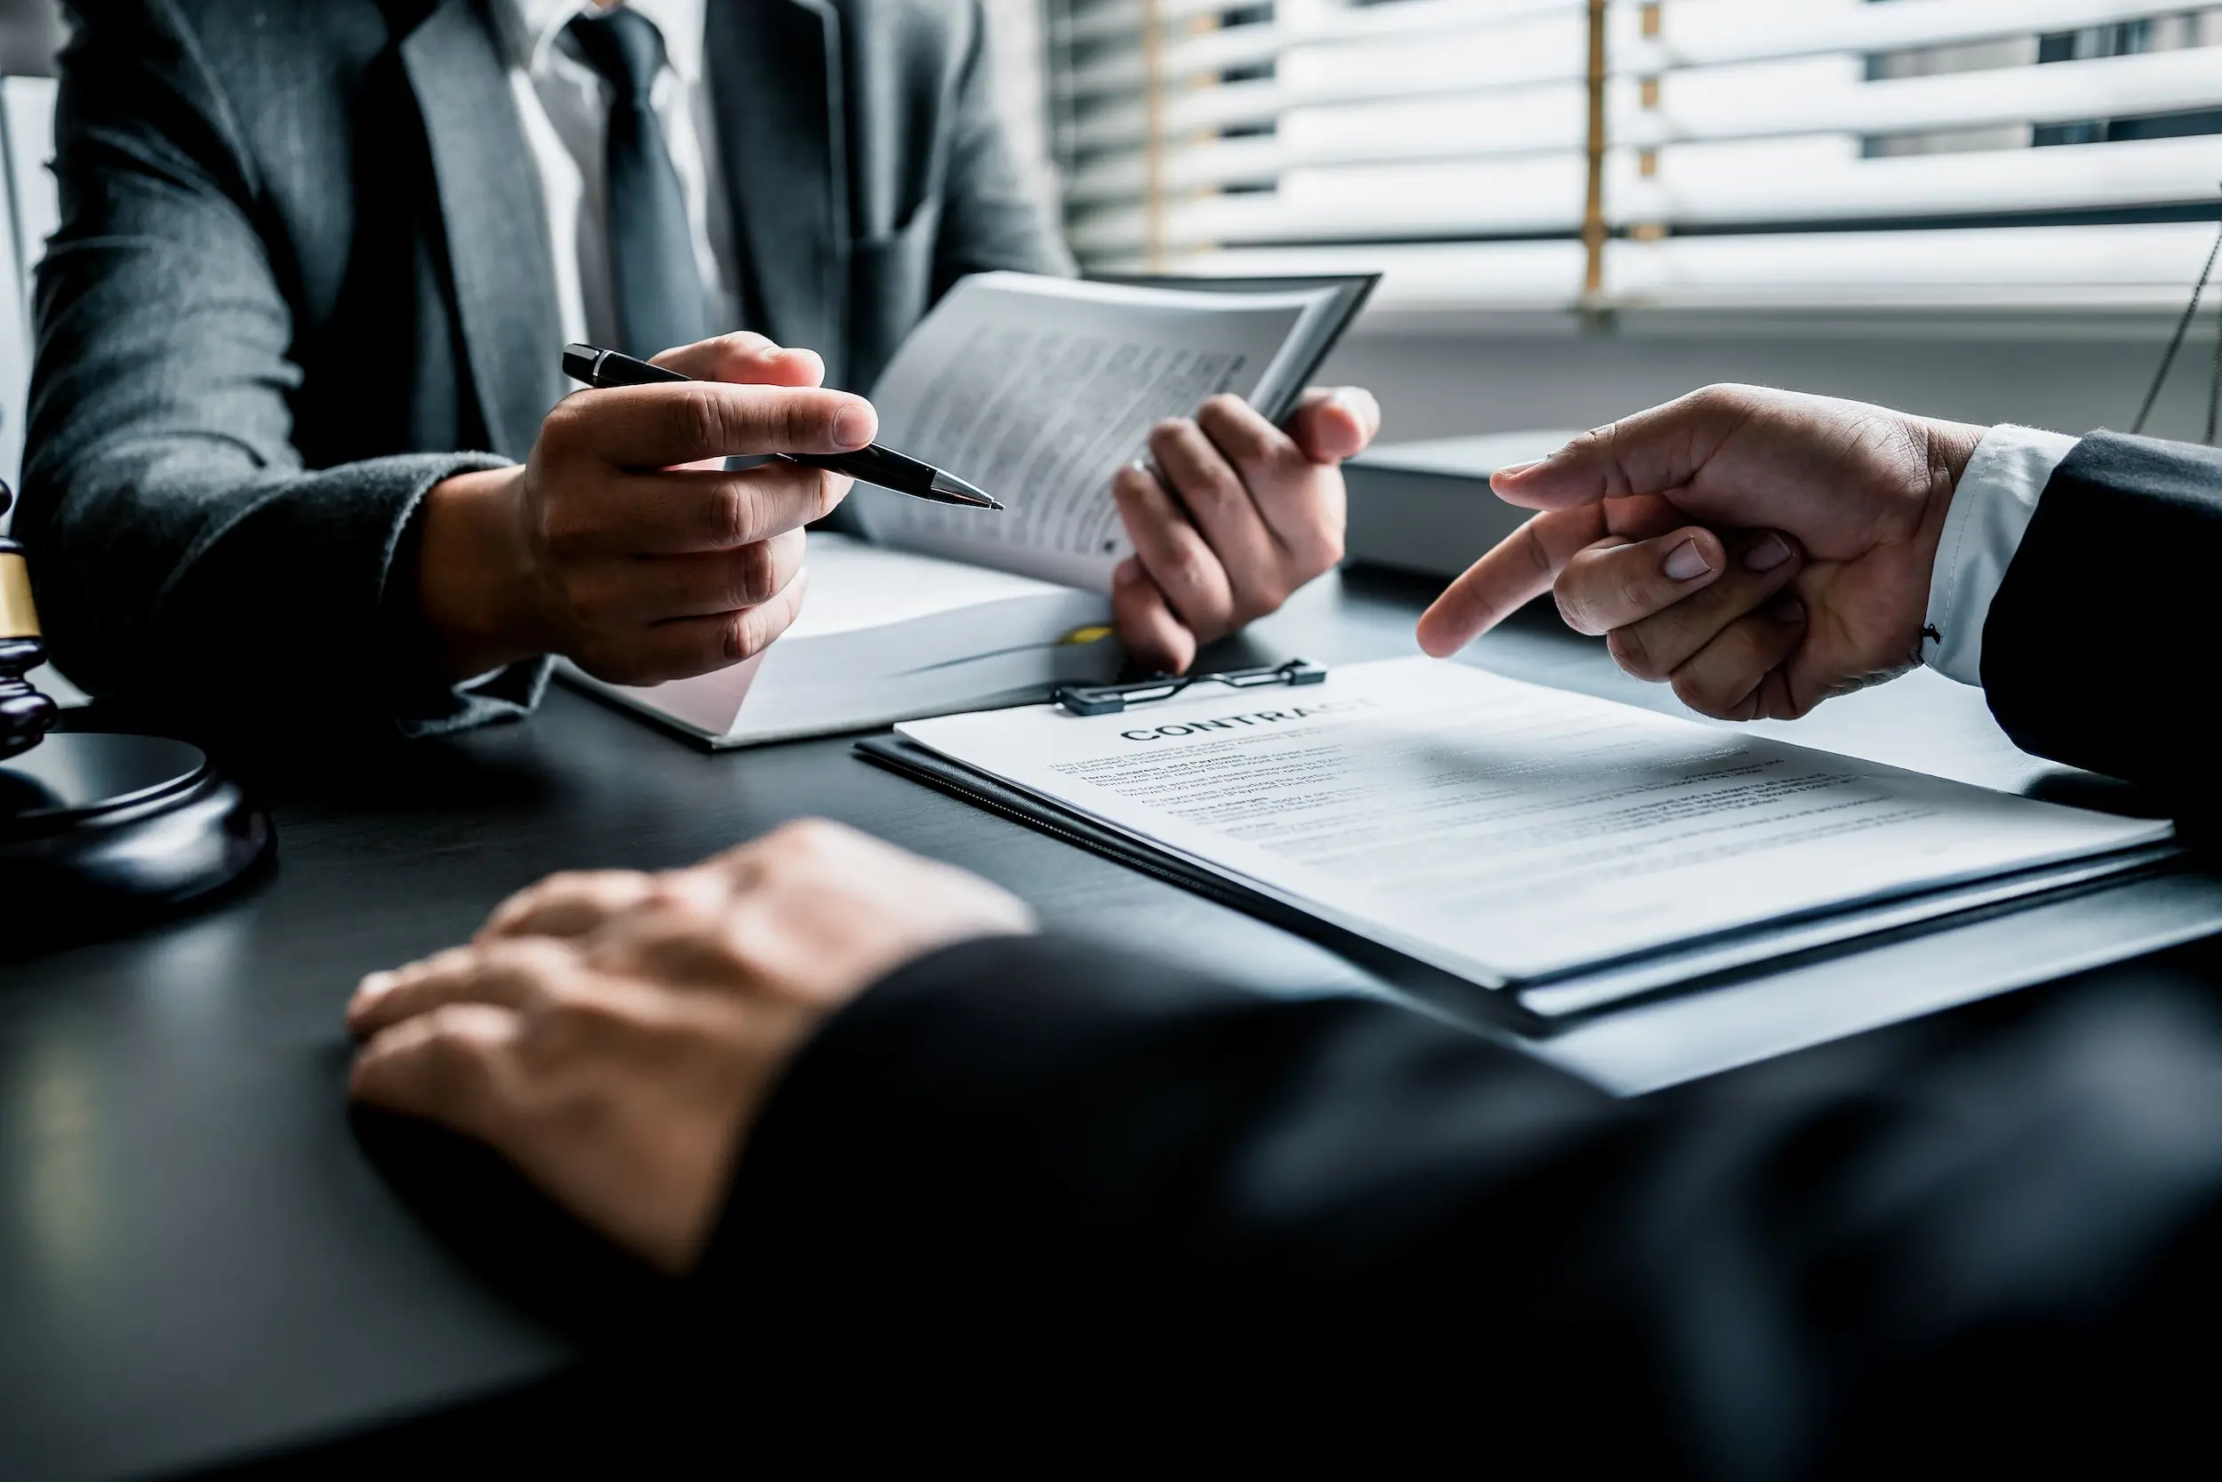
[[[1387,1002],[958,947],[789,1069],[691,1306],[809,1384],[833,1346],[844,1395],[862,1355],[980,1395],[1104,1355],[1211,1404],[1331,1375],[1564,1475],[2162,1435],[2171,1335],[2215,1313],[2222,1011],[2124,987],[1962,1044],[1613,1102]]]

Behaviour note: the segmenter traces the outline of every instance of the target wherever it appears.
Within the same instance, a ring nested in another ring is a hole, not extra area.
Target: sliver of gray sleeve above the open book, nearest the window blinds
[[[1049,218],[1049,202],[1027,182],[995,107],[987,18],[964,0],[971,44],[958,76],[942,187],[942,227],[933,247],[933,298],[967,273],[1011,269],[1071,276],[1073,258]]]

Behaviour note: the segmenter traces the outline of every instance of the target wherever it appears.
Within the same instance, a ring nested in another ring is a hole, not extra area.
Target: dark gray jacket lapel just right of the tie
[[[829,0],[711,0],[704,71],[744,282],[782,344],[849,358],[849,149],[840,16]]]

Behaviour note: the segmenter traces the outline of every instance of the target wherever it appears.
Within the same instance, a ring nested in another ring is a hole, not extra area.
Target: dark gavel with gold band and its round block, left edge
[[[0,513],[13,502],[0,484]],[[44,662],[31,569],[0,535],[0,953],[113,935],[238,880],[269,853],[269,815],[198,747],[53,733],[29,673]]]

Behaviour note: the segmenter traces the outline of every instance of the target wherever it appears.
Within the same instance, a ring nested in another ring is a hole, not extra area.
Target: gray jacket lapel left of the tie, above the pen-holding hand
[[[431,144],[478,413],[496,453],[524,458],[562,395],[562,316],[533,156],[476,0],[440,0],[400,51]]]

